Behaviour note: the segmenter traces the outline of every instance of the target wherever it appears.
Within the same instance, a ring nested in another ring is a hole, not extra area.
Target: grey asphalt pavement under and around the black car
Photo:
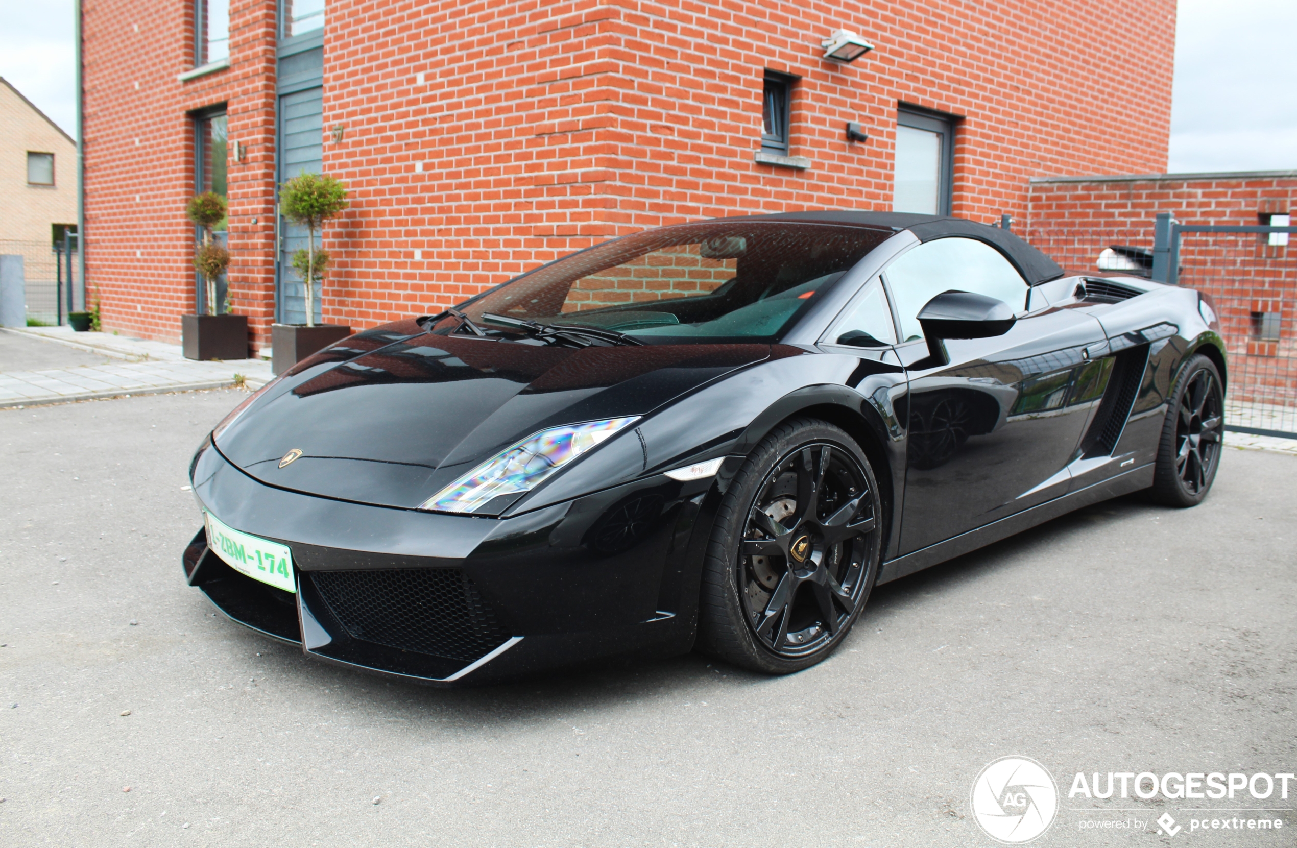
[[[1078,771],[1297,771],[1297,458],[1231,449],[1195,510],[1123,498],[882,586],[791,677],[689,655],[446,691],[184,585],[188,459],[241,397],[0,410],[0,844],[994,845],[970,788],[1008,755],[1061,791],[1034,845],[1167,843],[1163,813],[1176,844],[1297,842],[1278,791],[1069,797]]]

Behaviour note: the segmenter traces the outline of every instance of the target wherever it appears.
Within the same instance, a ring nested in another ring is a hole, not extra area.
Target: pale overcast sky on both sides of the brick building
[[[0,0],[0,77],[75,136],[73,9]],[[1294,40],[1297,0],[1180,0],[1171,172],[1297,170]]]

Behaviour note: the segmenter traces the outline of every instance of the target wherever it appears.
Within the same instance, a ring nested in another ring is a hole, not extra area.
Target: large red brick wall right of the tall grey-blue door
[[[957,215],[1023,215],[1031,175],[1166,161],[1171,3],[966,3],[952,16],[900,3],[350,0],[329,14],[326,124],[346,135],[324,161],[357,202],[328,233],[341,262],[326,311],[351,324],[449,305],[645,227],[890,209],[900,101],[962,117]],[[824,61],[817,40],[839,26],[877,49]],[[791,153],[808,171],[754,162],[764,69],[802,78]],[[848,143],[847,121],[870,140]]]

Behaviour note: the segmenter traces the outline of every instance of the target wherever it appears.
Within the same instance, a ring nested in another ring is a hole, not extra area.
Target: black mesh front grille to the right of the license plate
[[[458,568],[310,574],[353,638],[463,663],[508,641],[494,611]]]

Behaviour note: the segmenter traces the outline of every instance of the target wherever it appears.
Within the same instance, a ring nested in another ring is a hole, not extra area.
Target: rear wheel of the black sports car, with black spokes
[[[1202,503],[1220,467],[1224,384],[1215,363],[1197,354],[1180,370],[1162,424],[1150,495],[1171,507]]]

